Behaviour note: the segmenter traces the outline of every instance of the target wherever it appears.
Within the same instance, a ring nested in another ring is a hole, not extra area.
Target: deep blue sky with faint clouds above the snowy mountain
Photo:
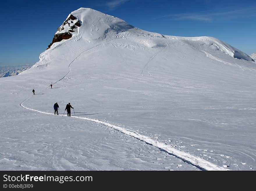
[[[256,53],[255,0],[1,1],[0,65],[33,64],[66,17],[80,7],[119,17],[146,31],[212,36]]]

